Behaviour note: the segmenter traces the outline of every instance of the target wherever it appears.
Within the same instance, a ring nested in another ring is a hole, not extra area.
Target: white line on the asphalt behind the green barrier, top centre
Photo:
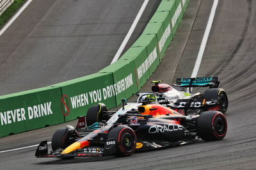
[[[111,64],[112,64],[112,63],[115,63],[115,62],[118,60],[118,58],[120,57],[120,55],[122,54],[125,45],[126,45],[127,42],[129,41],[129,39],[130,39],[130,37],[131,37],[131,35],[132,35],[132,33],[133,33],[135,27],[137,26],[137,24],[138,24],[138,22],[139,22],[139,20],[140,20],[140,17],[141,17],[141,15],[142,15],[142,13],[144,12],[144,10],[145,10],[145,8],[146,8],[146,6],[147,6],[147,4],[148,4],[148,1],[149,1],[149,0],[145,0],[144,3],[142,4],[139,13],[137,14],[136,18],[134,19],[131,28],[129,29],[127,35],[126,35],[125,38],[124,38],[124,41],[122,42],[121,46],[119,47],[118,51],[116,52],[115,57],[114,57],[113,60],[111,61]]]

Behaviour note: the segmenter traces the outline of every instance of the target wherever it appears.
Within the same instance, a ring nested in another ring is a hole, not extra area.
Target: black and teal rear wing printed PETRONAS
[[[220,81],[218,77],[195,77],[195,78],[179,78],[176,81],[176,84],[173,86],[182,87],[182,88],[193,88],[193,87],[210,87],[218,88]]]

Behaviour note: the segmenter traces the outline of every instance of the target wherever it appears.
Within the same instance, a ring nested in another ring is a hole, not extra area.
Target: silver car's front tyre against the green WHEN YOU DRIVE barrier
[[[86,114],[86,124],[89,127],[95,122],[102,121],[103,112],[108,111],[105,104],[99,103],[90,107]]]

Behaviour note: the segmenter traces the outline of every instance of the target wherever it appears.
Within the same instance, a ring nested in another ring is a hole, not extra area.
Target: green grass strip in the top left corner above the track
[[[26,0],[14,0],[14,2],[0,15],[0,29],[14,15]]]

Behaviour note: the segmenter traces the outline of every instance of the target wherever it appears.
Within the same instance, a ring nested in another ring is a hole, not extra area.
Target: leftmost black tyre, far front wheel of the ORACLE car
[[[55,151],[59,148],[65,149],[70,144],[74,143],[74,134],[68,128],[61,128],[57,130],[52,136],[52,150]]]

